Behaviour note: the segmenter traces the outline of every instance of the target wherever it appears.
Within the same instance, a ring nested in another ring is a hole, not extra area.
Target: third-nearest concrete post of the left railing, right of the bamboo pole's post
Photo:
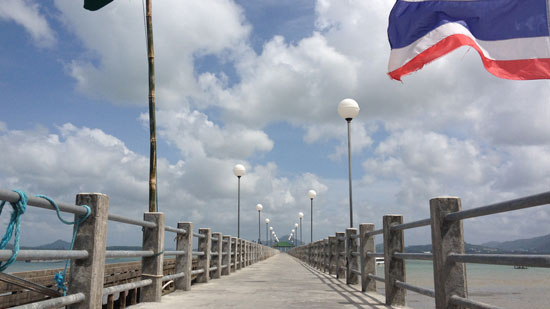
[[[176,256],[176,273],[183,272],[185,276],[176,279],[176,289],[190,291],[193,268],[193,223],[178,222],[178,228],[186,230],[187,233],[177,236],[176,250],[185,251],[185,254]]]

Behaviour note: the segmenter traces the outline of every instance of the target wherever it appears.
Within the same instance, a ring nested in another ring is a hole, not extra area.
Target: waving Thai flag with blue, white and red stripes
[[[389,75],[403,75],[471,46],[491,74],[550,78],[547,0],[397,0],[389,18]]]

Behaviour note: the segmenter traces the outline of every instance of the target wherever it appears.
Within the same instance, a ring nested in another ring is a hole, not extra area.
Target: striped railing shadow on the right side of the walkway
[[[319,280],[324,283],[327,287],[332,289],[338,295],[342,296],[346,301],[342,302],[342,305],[353,305],[356,308],[391,308],[386,306],[383,296],[380,295],[380,298],[369,295],[370,293],[364,293],[360,289],[347,285],[345,282],[336,279],[332,275],[321,272],[308,264],[302,262],[301,260],[296,259],[310,273],[319,278]]]

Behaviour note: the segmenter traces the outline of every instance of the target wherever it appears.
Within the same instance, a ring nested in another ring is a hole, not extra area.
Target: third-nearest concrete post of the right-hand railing
[[[368,232],[374,231],[374,224],[359,224],[360,254],[361,254],[361,291],[376,292],[376,281],[371,280],[368,275],[376,275],[376,258],[369,257],[369,252],[375,253],[376,246],[374,236],[369,237]]]

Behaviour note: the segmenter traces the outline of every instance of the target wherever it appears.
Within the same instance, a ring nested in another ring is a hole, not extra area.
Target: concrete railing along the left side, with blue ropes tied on
[[[15,203],[19,199],[15,192],[0,190],[0,200]],[[71,259],[67,295],[20,306],[21,308],[101,308],[103,296],[136,288],[141,288],[141,302],[159,302],[165,282],[173,281],[175,289],[189,291],[193,275],[197,275],[197,283],[206,283],[279,252],[230,235],[211,233],[209,228],[201,228],[198,233],[193,233],[191,222],[179,222],[177,228],[166,226],[165,216],[161,212],[146,212],[143,220],[109,214],[109,197],[101,193],[78,194],[76,205],[57,204],[60,211],[73,213],[75,218],[87,212],[79,205],[88,205],[91,208],[90,216],[79,226],[73,250],[20,250],[17,260]],[[29,196],[27,205],[55,210],[47,200],[39,197]],[[106,250],[108,220],[141,226],[142,250]],[[165,232],[176,233],[176,251],[164,251]],[[197,251],[193,251],[193,237],[198,238]],[[11,255],[11,250],[0,250],[0,261],[7,261]],[[175,274],[163,275],[165,256],[176,257]],[[199,260],[196,270],[192,270],[193,256],[198,256]],[[141,257],[141,280],[104,288],[105,259],[115,257]]]

